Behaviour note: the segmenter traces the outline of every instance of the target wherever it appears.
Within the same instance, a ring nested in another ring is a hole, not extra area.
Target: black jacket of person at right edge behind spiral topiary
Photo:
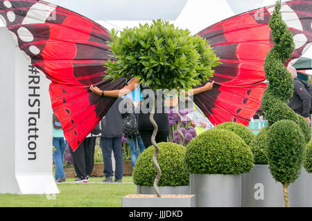
[[[289,99],[288,106],[302,117],[309,117],[311,109],[311,95],[306,84],[300,79],[293,80],[293,97]]]

